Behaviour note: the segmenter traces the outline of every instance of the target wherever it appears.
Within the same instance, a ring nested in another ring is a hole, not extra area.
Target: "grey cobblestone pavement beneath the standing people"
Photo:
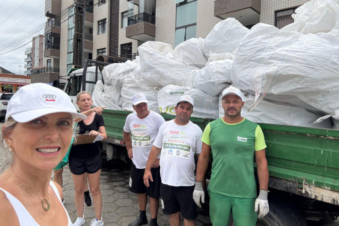
[[[130,165],[123,164],[122,161],[107,162],[102,159],[103,167],[101,171],[100,189],[102,193],[102,220],[106,226],[121,225],[127,226],[139,215],[138,198],[128,190],[130,178]],[[65,207],[69,213],[72,222],[77,217],[74,204],[74,187],[68,165],[63,172],[63,191]],[[90,225],[94,217],[93,206],[84,207],[85,224]],[[147,204],[147,218],[151,219],[149,204]],[[161,226],[170,225],[168,215],[162,213],[161,205],[159,207],[158,224]],[[209,217],[199,214],[197,225],[211,225]]]

